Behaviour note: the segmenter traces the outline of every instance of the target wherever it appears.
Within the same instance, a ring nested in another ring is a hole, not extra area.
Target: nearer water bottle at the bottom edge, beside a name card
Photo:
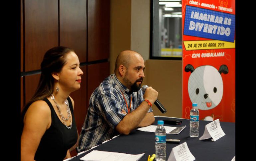
[[[156,129],[156,161],[165,161],[166,160],[166,130],[164,127],[164,121],[157,121]]]

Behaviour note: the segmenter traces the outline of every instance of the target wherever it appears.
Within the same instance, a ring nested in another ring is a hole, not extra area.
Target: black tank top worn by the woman
[[[52,123],[49,129],[44,133],[35,154],[36,161],[45,160],[64,160],[67,150],[77,141],[76,124],[73,114],[73,105],[70,98],[67,98],[70,112],[72,114],[72,127],[67,129],[60,121],[50,101],[45,98],[44,101],[51,109]],[[39,118],[40,119],[40,118]]]

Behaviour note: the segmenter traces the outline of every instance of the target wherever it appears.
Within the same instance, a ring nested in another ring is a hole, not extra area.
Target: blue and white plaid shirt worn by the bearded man
[[[78,152],[102,144],[103,141],[119,134],[115,127],[126,115],[122,114],[121,110],[124,109],[128,114],[121,91],[128,106],[131,106],[130,112],[134,111],[144,100],[144,93],[141,89],[129,94],[129,89],[121,84],[115,74],[105,78],[90,97],[88,112],[79,136]],[[130,105],[131,96],[132,105]],[[152,108],[149,112],[153,112]]]

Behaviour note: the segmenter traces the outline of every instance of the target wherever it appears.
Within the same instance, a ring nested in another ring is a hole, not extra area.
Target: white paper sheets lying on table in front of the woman
[[[115,153],[108,151],[98,151],[93,150],[86,154],[80,160],[84,161],[138,161],[144,155],[142,154],[125,154],[125,153]]]

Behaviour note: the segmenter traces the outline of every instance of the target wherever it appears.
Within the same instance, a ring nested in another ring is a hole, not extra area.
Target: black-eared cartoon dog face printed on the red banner
[[[219,71],[210,65],[199,66],[196,69],[191,64],[186,65],[186,72],[191,72],[188,83],[189,97],[192,103],[197,103],[200,110],[215,108],[223,95],[221,73],[228,73],[226,65],[221,65]]]

